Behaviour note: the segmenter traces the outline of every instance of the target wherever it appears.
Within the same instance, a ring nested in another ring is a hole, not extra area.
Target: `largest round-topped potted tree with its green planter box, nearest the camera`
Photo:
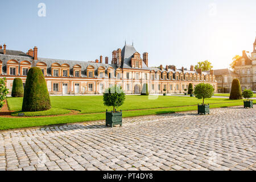
[[[103,101],[105,106],[113,106],[113,110],[111,112],[106,110],[106,126],[122,126],[122,110],[117,111],[115,109],[123,105],[123,102],[125,101],[125,93],[122,88],[115,85],[112,88],[106,89],[103,94]]]

